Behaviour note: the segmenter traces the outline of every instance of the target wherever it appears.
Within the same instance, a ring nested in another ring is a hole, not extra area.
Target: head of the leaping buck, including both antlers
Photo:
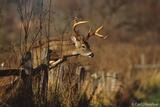
[[[76,47],[76,50],[74,51],[73,54],[78,54],[78,55],[82,55],[82,56],[88,56],[88,57],[93,57],[94,54],[92,52],[92,50],[90,49],[90,46],[88,44],[88,39],[91,37],[91,36],[98,36],[98,37],[103,37],[103,35],[99,34],[98,32],[102,29],[102,26],[99,27],[95,32],[91,33],[91,29],[89,30],[87,36],[82,36],[79,34],[79,32],[76,30],[76,28],[79,26],[79,25],[82,25],[82,24],[85,24],[85,23],[88,23],[88,21],[79,21],[79,22],[74,22],[73,24],[73,30],[75,32],[75,36],[72,36],[71,37],[71,40],[73,41],[75,47]]]

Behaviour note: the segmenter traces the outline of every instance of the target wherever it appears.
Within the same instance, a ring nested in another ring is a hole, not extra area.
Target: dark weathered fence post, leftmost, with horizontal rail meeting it
[[[22,105],[23,107],[32,107],[33,106],[33,92],[32,92],[32,55],[31,52],[26,52],[22,56],[22,70],[21,79],[22,79]]]

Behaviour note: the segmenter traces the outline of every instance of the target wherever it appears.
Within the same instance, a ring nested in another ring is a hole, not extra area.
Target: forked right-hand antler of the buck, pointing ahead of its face
[[[103,36],[101,34],[99,34],[99,31],[103,28],[103,26],[99,27],[96,31],[94,31],[93,33],[91,33],[91,28],[88,32],[88,35],[86,37],[86,40],[88,40],[91,36],[98,36],[100,38],[106,39],[108,36]]]

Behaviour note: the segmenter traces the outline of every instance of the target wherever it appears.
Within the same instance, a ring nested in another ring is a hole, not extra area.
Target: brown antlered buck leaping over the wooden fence
[[[82,36],[79,34],[77,31],[77,27],[82,24],[86,24],[88,21],[79,21],[75,22],[73,24],[73,30],[75,35],[71,36],[71,40],[49,40],[49,46],[51,50],[51,57],[50,57],[50,62],[55,62],[58,58],[61,56],[63,58],[71,57],[71,56],[86,56],[86,57],[93,57],[94,53],[90,49],[90,45],[88,44],[88,39],[92,36],[98,36],[100,38],[106,38],[105,36],[99,34],[99,31],[103,28],[103,26],[99,27],[96,31],[91,32],[91,29],[89,30],[87,36]],[[48,42],[42,42],[41,43],[41,48],[40,45],[34,45],[32,48],[32,53],[33,53],[33,65],[39,65],[40,64],[40,49],[46,49]],[[60,51],[61,47],[63,47],[62,52]],[[56,62],[59,63],[62,60],[58,60]]]

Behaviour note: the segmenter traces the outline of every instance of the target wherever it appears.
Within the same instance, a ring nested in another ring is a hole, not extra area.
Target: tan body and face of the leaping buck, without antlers
[[[72,39],[75,39],[72,37]],[[51,61],[56,61],[61,56],[63,57],[71,57],[71,56],[88,56],[93,57],[93,53],[88,46],[87,43],[84,41],[78,41],[78,40],[65,40],[61,42],[60,40],[50,40],[49,41],[49,48],[51,50]],[[42,45],[37,45],[32,48],[32,55],[33,55],[33,66],[37,66],[41,63],[41,56],[42,51],[44,49],[47,49],[48,43],[44,42]]]

